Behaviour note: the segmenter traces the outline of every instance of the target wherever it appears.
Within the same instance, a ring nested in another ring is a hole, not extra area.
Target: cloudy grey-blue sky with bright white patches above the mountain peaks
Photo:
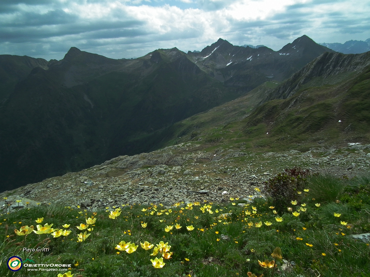
[[[110,58],[201,50],[218,38],[275,51],[370,38],[369,0],[1,0],[0,54],[62,59],[70,47]]]

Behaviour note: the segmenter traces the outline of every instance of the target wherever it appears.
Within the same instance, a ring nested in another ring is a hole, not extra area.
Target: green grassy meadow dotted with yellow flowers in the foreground
[[[325,178],[328,183],[329,177]],[[321,202],[317,207],[318,199],[312,199],[315,196],[312,182],[310,179],[311,185],[307,184],[310,190],[300,195],[297,205],[291,205],[293,211],[299,211],[297,217],[287,209],[275,215],[275,208],[270,208],[274,205],[270,198],[256,198],[246,206],[237,205],[245,202],[242,199],[233,199],[224,205],[205,202],[200,206],[193,205],[192,209],[185,204],[180,207],[136,204],[121,207],[117,220],[108,217],[117,207],[96,213],[53,205],[4,212],[0,216],[0,276],[57,276],[55,271],[26,271],[26,267],[13,273],[5,264],[14,255],[23,260],[32,259],[35,263],[72,264],[70,271],[74,276],[246,276],[249,271],[258,276],[272,276],[272,270],[264,269],[258,261],[273,260],[271,253],[275,247],[282,249],[283,259],[295,262],[295,266],[284,271],[282,276],[317,276],[318,273],[321,276],[348,276],[349,270],[351,276],[369,276],[369,244],[355,241],[350,236],[370,230],[370,193],[366,190],[369,179],[357,177],[343,181],[347,190],[344,189],[341,196],[351,191],[353,199],[362,200],[360,206],[344,199]],[[207,209],[203,213],[200,209],[203,205],[211,206],[208,209],[211,213]],[[301,211],[303,207],[307,210]],[[147,211],[142,211],[143,208]],[[158,212],[162,214],[158,215]],[[229,215],[220,217],[222,213]],[[335,217],[334,213],[341,216]],[[283,221],[277,222],[276,216]],[[53,223],[53,228],[69,229],[70,235],[54,238],[50,234],[30,233],[26,237],[14,234],[14,229],[24,225],[34,225],[36,229],[35,220],[41,217],[44,218],[42,224]],[[85,218],[89,217],[96,218],[96,222],[89,226],[94,229],[87,232],[91,235],[82,244],[77,242],[81,231],[75,226],[85,223]],[[341,221],[347,224],[342,225]],[[141,226],[143,222],[147,223],[146,228]],[[255,227],[258,222],[262,222],[260,228]],[[266,226],[264,222],[272,225]],[[63,228],[65,223],[70,227]],[[182,228],[173,227],[165,232],[166,226],[176,223]],[[189,225],[193,225],[194,230],[188,231],[186,226]],[[228,239],[223,239],[225,236]],[[23,239],[26,239],[28,248],[49,247],[50,252],[23,252]],[[122,240],[139,246],[131,254],[118,251],[115,247]],[[166,264],[162,269],[152,267],[150,259],[154,257],[149,256],[152,249],[145,251],[140,247],[140,242],[144,241],[154,245],[163,241],[171,245],[173,254],[171,259],[164,259]],[[282,261],[276,263],[281,270]]]

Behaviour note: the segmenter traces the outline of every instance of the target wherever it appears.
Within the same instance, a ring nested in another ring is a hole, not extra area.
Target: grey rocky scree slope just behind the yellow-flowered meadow
[[[342,148],[322,146],[305,153],[252,153],[220,147],[213,151],[196,143],[181,143],[152,153],[121,156],[86,170],[46,179],[6,191],[10,209],[27,205],[81,205],[96,209],[121,204],[177,201],[229,201],[239,197],[248,202],[264,181],[284,168],[301,166],[312,172],[353,177],[370,167],[370,144]],[[250,196],[251,195],[251,196]],[[4,206],[4,205],[3,205]],[[4,208],[4,207],[3,207]]]

